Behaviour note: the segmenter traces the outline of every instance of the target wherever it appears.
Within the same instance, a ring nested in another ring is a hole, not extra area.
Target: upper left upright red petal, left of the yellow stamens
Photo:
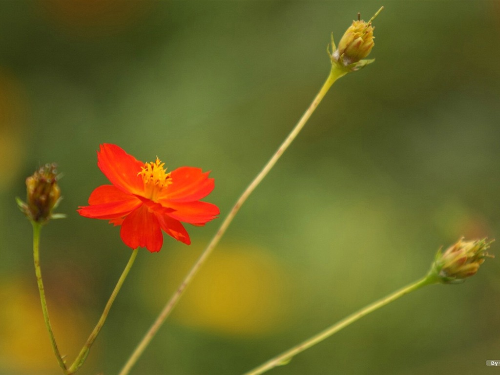
[[[143,165],[116,144],[101,144],[97,152],[97,166],[102,173],[113,185],[131,194],[140,194],[144,190],[142,177],[137,174]]]

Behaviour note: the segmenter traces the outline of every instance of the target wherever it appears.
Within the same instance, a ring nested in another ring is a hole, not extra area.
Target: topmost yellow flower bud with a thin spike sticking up
[[[371,17],[368,22],[358,19],[343,34],[338,47],[335,48],[333,37],[331,40],[333,53],[330,55],[331,62],[342,69],[357,70],[373,60],[361,60],[366,57],[375,43],[373,42],[373,29],[371,21],[383,9],[383,6]]]

